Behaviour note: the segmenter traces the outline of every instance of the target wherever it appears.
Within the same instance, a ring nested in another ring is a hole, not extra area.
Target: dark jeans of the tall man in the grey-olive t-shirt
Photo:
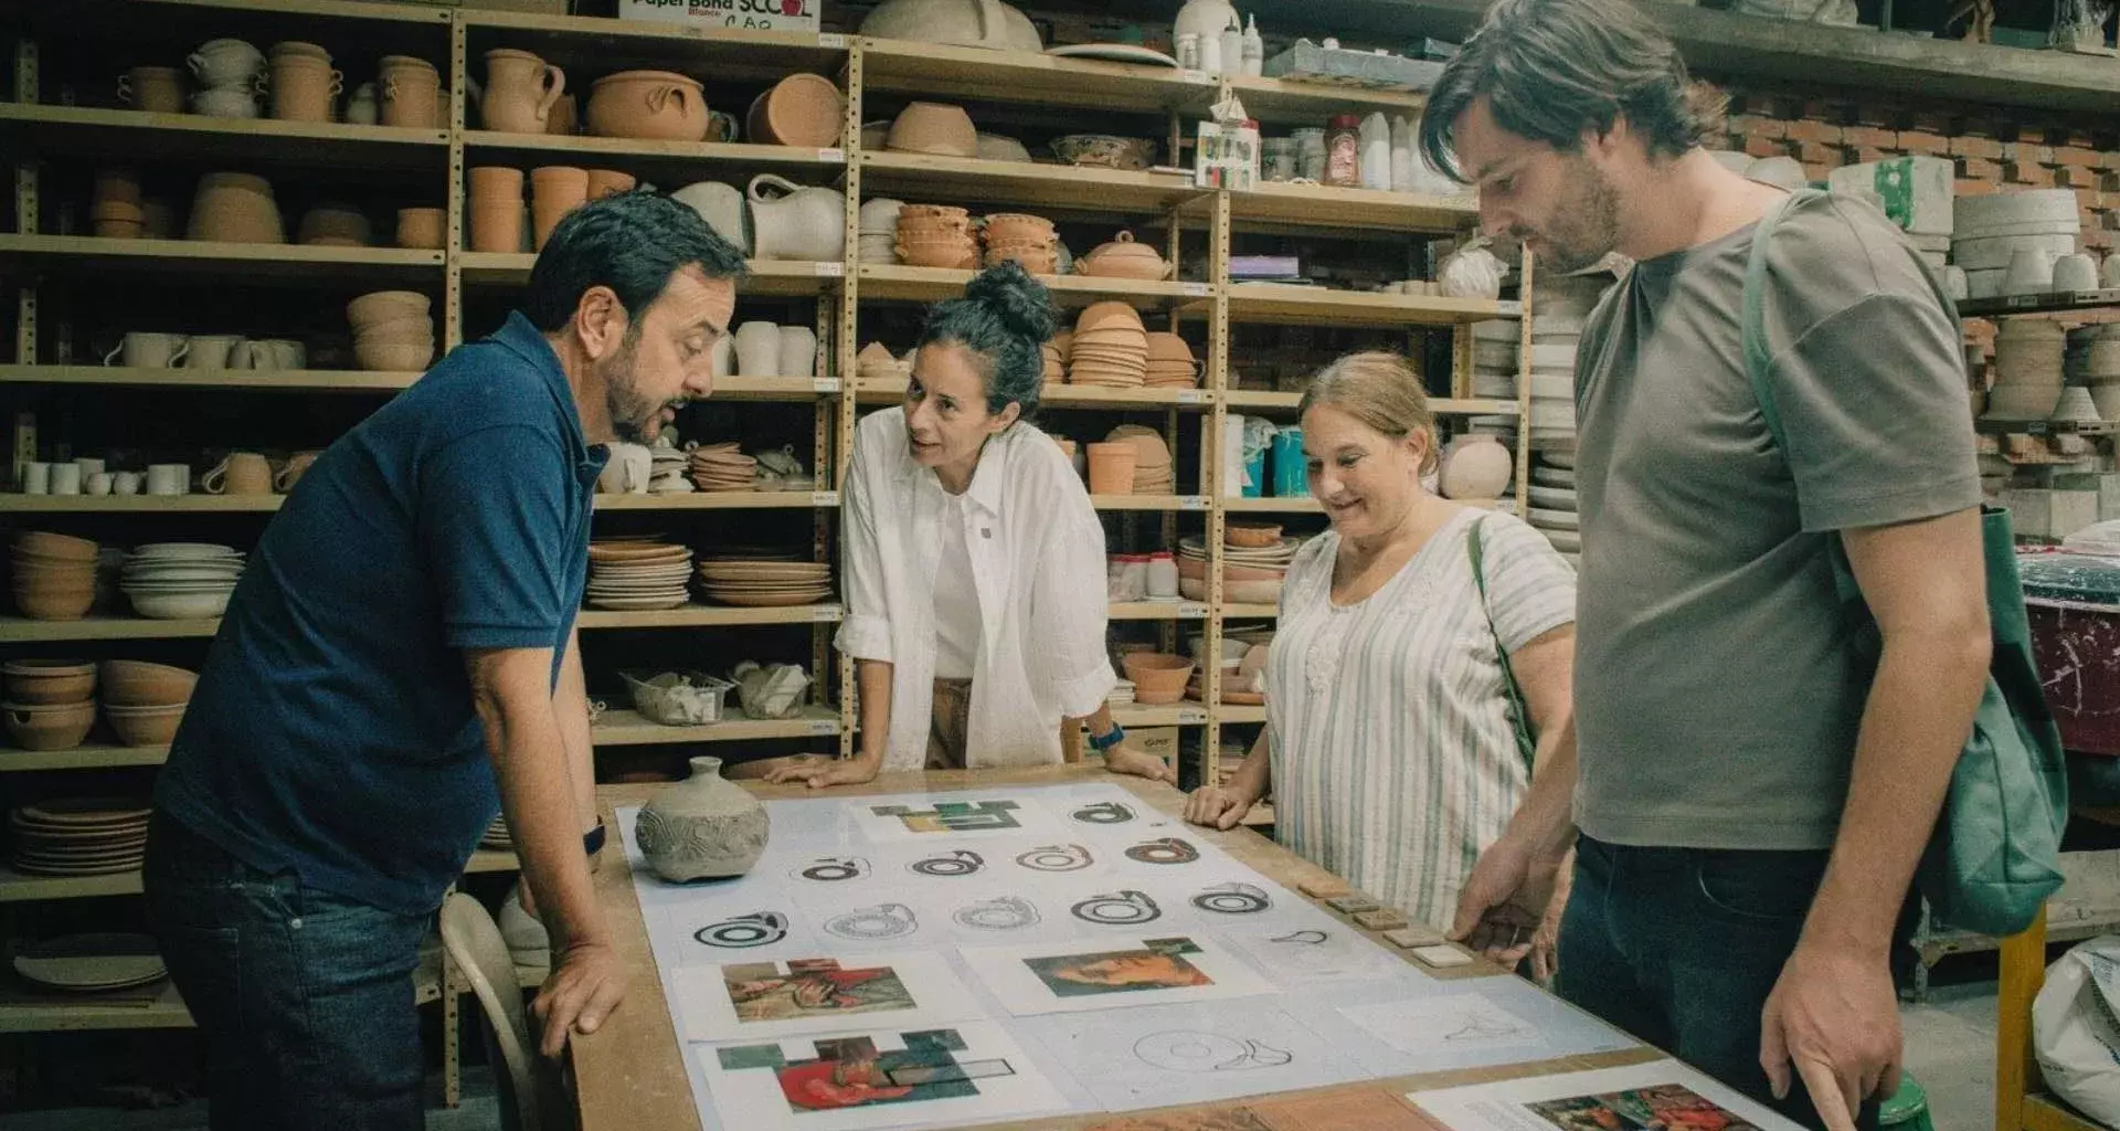
[[[1794,1065],[1789,1097],[1774,1099],[1760,1067],[1760,1014],[1796,951],[1825,857],[1584,836],[1554,989],[1804,1127],[1823,1127]],[[1876,1101],[1863,1103],[1857,1127],[1874,1131],[1876,1114]]]

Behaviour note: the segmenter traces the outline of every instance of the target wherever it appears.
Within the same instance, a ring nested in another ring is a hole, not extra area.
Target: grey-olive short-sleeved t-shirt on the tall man
[[[1598,840],[1830,847],[1872,671],[1827,535],[1980,503],[1957,312],[1900,229],[1851,197],[1774,229],[1787,452],[1745,376],[1751,242],[1637,263],[1584,327],[1575,819]]]

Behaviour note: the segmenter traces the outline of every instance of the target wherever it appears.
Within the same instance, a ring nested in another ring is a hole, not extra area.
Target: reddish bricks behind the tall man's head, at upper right
[[[1732,93],[1728,149],[1753,157],[1796,157],[1810,180],[1840,166],[1887,157],[1944,157],[1957,166],[1957,195],[2071,189],[2082,250],[2120,248],[2120,115],[2048,121],[1993,106],[1944,108],[1789,93]]]

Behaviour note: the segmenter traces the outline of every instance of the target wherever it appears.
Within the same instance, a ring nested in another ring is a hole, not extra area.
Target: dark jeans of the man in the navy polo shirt
[[[206,1033],[214,1131],[422,1127],[424,915],[261,872],[161,813],[146,910]]]

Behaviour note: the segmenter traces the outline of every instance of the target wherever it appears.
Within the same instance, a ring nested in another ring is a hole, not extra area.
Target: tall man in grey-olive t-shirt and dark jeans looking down
[[[1456,925],[1509,953],[1575,845],[1560,993],[1853,1129],[1897,1086],[1895,923],[1986,677],[1969,403],[1906,238],[1806,199],[1766,248],[1774,443],[1741,316],[1785,195],[1698,146],[1711,102],[1626,0],[1503,0],[1429,98],[1423,149],[1488,231],[1545,272],[1637,261],[1577,354],[1575,758],[1539,766]]]

